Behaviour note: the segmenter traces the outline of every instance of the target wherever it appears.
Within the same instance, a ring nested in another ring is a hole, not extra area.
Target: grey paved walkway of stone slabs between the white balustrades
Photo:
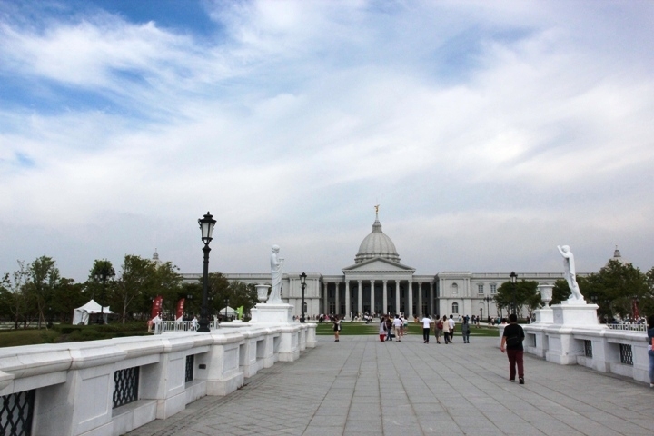
[[[654,390],[627,378],[525,356],[508,381],[495,338],[451,345],[319,336],[226,397],[203,397],[130,436],[654,434]]]

